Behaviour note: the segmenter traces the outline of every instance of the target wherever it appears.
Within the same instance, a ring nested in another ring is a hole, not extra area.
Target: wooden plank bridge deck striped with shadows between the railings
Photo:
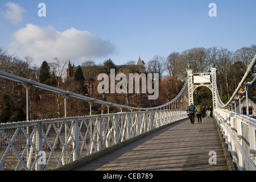
[[[215,151],[217,164],[209,164]],[[94,159],[73,171],[228,170],[213,118],[175,123]]]

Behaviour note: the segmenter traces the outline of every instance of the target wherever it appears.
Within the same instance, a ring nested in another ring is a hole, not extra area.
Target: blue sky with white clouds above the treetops
[[[46,17],[38,16],[39,3]],[[208,15],[209,3],[216,3],[216,17]],[[253,0],[1,0],[0,47],[39,65],[53,57],[75,65],[139,56],[148,62],[193,47],[236,51],[256,44],[255,7]]]

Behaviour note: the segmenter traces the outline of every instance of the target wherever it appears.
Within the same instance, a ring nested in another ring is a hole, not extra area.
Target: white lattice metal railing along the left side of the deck
[[[51,170],[187,118],[185,110],[151,110],[0,123],[0,170]]]

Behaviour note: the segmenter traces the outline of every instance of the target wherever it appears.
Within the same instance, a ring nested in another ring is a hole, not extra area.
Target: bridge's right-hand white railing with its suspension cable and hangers
[[[226,104],[223,104],[221,101],[216,82],[214,82],[213,85],[216,93],[216,104],[218,105],[218,107],[214,109],[213,115],[214,118],[216,118],[222,136],[228,146],[233,163],[238,170],[256,170],[256,119],[249,117],[249,113],[247,113],[247,115],[241,114],[241,94],[244,93],[238,93],[238,90],[240,90],[242,86],[246,86],[245,93],[247,100],[247,90],[249,86],[253,85],[256,81],[256,74],[253,81],[245,83],[245,80],[250,73],[255,70],[255,64],[256,54],[240,81],[240,84],[238,84],[237,89]],[[228,106],[232,107],[232,104],[236,106],[236,101],[240,102],[240,113],[234,113],[227,109]]]

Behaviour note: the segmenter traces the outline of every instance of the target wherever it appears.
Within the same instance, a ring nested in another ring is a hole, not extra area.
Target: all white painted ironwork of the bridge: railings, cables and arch
[[[225,105],[218,94],[216,68],[212,68],[210,73],[192,73],[192,70],[189,69],[187,71],[188,78],[174,100],[164,105],[149,108],[130,107],[105,102],[0,71],[0,78],[23,84],[27,94],[28,89],[34,86],[38,89],[61,94],[64,98],[73,97],[88,101],[90,104],[94,102],[106,105],[108,113],[110,106],[121,109],[121,113],[115,114],[90,114],[84,117],[67,118],[65,112],[65,118],[0,123],[0,156],[2,156],[0,170],[55,169],[167,123],[186,118],[185,107],[193,103],[193,91],[198,86],[207,86],[212,90],[214,117],[216,117],[218,125],[222,129],[225,140],[228,144],[231,143],[231,148],[234,147],[230,151],[234,154],[232,155],[233,161],[238,169],[255,170],[254,163],[252,162],[255,159],[255,121],[249,117],[241,119],[241,115],[238,117],[234,113],[220,109],[221,107],[228,106],[233,101],[240,87],[245,84],[249,73],[254,70],[255,63],[256,55],[238,85],[237,90]],[[193,77],[195,76],[203,77],[203,79],[196,77],[197,81],[193,82]],[[210,82],[208,82],[209,78]],[[249,85],[253,84],[255,80],[249,83]],[[122,112],[124,108],[130,111],[137,111],[125,113]],[[27,103],[27,116],[28,112]],[[226,113],[226,115],[223,113]],[[229,115],[228,120],[226,119],[227,114]],[[230,124],[230,118],[233,119],[232,124]],[[232,131],[233,129],[236,132]],[[244,135],[247,131],[249,131],[249,137]],[[231,135],[232,132],[235,133],[234,136]],[[236,138],[243,140],[240,142]],[[43,156],[40,154],[43,154]],[[44,161],[42,158],[45,159],[45,163],[42,162]]]

